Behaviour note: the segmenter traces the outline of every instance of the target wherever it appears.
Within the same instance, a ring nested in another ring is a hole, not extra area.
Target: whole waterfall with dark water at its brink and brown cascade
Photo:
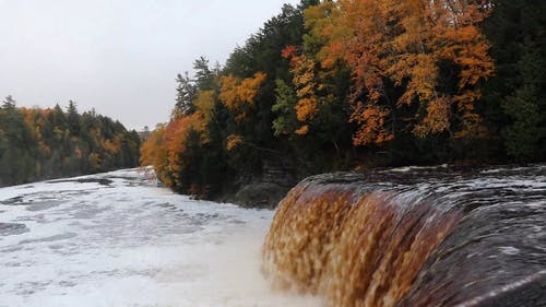
[[[331,306],[543,306],[545,226],[546,166],[320,175],[281,202],[263,271]]]

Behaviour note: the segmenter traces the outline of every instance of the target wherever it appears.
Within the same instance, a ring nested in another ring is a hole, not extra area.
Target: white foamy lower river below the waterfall
[[[2,188],[0,306],[320,306],[262,276],[272,217],[136,169]]]

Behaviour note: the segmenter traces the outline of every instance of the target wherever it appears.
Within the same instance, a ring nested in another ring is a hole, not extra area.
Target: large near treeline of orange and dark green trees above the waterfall
[[[545,1],[284,5],[225,66],[178,75],[142,164],[212,196],[271,167],[533,162],[546,156]]]

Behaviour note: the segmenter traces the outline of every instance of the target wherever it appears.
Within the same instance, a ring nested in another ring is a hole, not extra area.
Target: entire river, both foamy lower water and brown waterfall
[[[546,306],[545,229],[546,165],[319,175],[276,213],[118,170],[0,189],[0,307],[325,305],[271,285],[335,307]]]

